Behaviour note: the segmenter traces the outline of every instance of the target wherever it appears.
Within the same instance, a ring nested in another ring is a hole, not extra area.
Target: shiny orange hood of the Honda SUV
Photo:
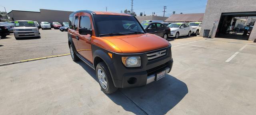
[[[154,34],[134,34],[101,38],[108,40],[118,47],[122,51],[120,53],[141,53],[169,46],[167,40]]]

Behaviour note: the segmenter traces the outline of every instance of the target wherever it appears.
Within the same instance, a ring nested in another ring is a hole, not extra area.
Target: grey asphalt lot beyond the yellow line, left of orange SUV
[[[68,34],[60,30],[42,30],[41,38],[21,38],[13,34],[0,40],[0,63],[69,54]]]

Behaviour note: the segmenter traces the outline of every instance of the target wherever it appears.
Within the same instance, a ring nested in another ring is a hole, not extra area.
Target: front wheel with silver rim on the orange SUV
[[[114,86],[108,66],[103,61],[96,66],[96,76],[104,93],[111,94],[116,92],[118,88]]]

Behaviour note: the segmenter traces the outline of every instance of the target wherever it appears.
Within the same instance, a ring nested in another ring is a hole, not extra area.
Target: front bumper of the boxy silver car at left
[[[14,31],[15,38],[39,37],[39,31]]]

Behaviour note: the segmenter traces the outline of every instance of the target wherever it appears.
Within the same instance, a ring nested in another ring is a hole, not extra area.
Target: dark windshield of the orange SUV
[[[144,33],[133,16],[94,15],[94,21],[100,36]]]

